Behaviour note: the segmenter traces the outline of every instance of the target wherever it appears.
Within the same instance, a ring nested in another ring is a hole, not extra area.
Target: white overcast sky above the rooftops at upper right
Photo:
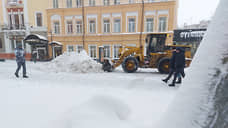
[[[178,25],[194,24],[200,20],[210,19],[219,0],[179,0]]]

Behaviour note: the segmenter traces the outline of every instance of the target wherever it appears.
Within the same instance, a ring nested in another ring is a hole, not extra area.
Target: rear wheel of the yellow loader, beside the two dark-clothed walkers
[[[169,73],[169,58],[162,58],[158,63],[158,71],[162,74]]]

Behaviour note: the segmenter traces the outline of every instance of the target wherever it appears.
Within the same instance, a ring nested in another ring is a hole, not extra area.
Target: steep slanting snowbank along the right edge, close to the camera
[[[215,128],[210,123],[216,117],[214,121],[209,118],[218,114],[211,113],[213,97],[228,74],[228,63],[224,61],[228,56],[227,5],[227,0],[220,1],[186,78],[157,128]]]

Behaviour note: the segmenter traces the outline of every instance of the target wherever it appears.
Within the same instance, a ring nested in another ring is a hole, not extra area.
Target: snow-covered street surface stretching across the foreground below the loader
[[[0,128],[151,128],[179,87],[166,75],[140,69],[124,73],[67,73],[27,62],[28,79],[16,78],[16,62],[0,62]]]

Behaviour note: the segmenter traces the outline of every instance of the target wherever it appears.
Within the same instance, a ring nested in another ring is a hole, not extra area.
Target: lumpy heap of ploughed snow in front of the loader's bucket
[[[63,53],[51,61],[47,67],[54,72],[102,72],[102,65],[94,61],[85,51]]]

